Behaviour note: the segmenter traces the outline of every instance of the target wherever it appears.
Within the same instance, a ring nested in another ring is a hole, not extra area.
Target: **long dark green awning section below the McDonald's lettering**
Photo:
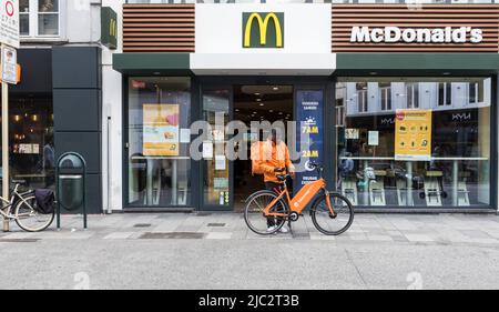
[[[338,53],[335,76],[493,74],[498,53]]]

